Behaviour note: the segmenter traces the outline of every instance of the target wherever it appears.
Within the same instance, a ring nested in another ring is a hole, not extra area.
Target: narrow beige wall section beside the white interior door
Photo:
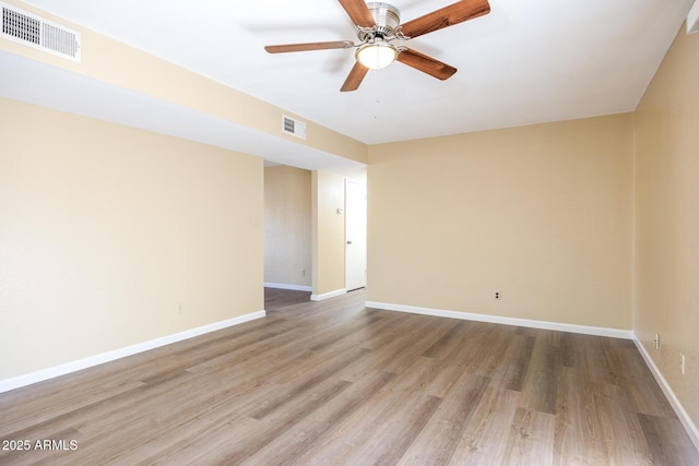
[[[321,297],[345,288],[345,179],[316,170],[311,186],[312,287],[313,296]]]

